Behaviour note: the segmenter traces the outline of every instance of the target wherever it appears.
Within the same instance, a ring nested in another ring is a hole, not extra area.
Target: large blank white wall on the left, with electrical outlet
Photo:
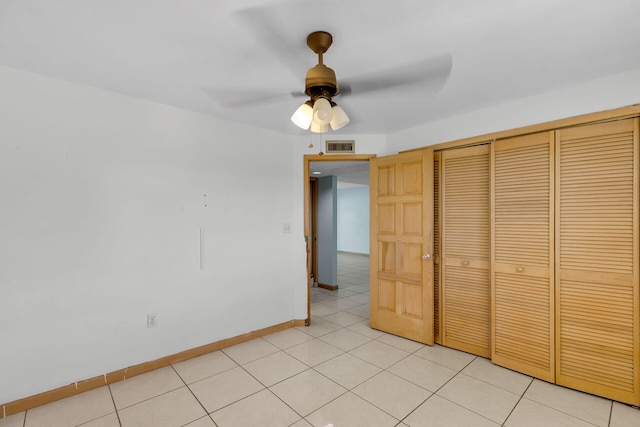
[[[0,404],[306,317],[295,138],[9,68],[0,93]]]

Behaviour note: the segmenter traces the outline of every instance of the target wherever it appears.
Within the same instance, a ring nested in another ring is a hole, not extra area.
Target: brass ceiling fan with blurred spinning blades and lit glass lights
[[[255,6],[241,9],[235,13],[236,19],[243,24],[273,58],[287,66],[294,75],[308,67],[298,55],[292,54],[299,46],[285,34],[287,16],[292,10],[300,16],[307,16],[303,2],[282,2],[268,6]],[[308,7],[308,6],[307,6]],[[317,24],[313,24],[317,25]],[[269,92],[269,88],[253,90],[209,90],[209,94],[230,108],[255,106],[260,103],[282,101],[290,96],[307,96],[295,111],[291,120],[302,129],[312,132],[327,132],[329,127],[338,130],[346,126],[350,119],[345,111],[336,104],[334,97],[354,97],[363,93],[384,91],[401,86],[414,85],[418,96],[430,96],[437,93],[446,83],[452,69],[450,54],[431,56],[423,60],[409,62],[401,66],[383,70],[374,70],[360,76],[336,79],[336,73],[324,64],[324,54],[331,47],[333,36],[327,31],[314,31],[307,36],[307,46],[318,55],[318,63],[309,68],[305,78],[305,89],[285,93]],[[258,79],[259,80],[259,79]],[[385,97],[392,96],[385,95]],[[290,99],[290,98],[289,98]]]

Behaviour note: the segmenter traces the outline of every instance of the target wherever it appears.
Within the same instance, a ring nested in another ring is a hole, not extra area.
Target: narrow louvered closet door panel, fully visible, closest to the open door
[[[443,151],[440,172],[440,338],[488,357],[489,145]]]

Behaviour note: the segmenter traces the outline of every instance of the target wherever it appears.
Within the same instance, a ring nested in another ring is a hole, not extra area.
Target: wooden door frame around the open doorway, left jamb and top
[[[368,162],[376,157],[375,154],[305,154],[304,155],[304,240],[307,251],[307,319],[305,325],[311,324],[311,245],[313,236],[311,236],[311,177],[309,176],[309,165],[311,162],[344,162],[344,161],[363,161]]]

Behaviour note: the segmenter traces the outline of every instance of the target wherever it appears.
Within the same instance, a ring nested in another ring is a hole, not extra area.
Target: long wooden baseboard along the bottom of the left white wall
[[[53,390],[45,391],[33,396],[25,397],[13,402],[2,404],[2,413],[0,419],[8,417],[9,415],[17,414],[18,412],[33,409],[37,406],[44,405],[46,403],[55,402],[56,400],[64,399],[66,397],[75,396],[76,394],[83,393],[85,391],[93,390],[98,387],[112,384],[118,381],[122,381],[126,378],[135,377],[136,375],[144,374],[155,369],[164,368],[165,366],[172,365],[174,363],[182,362],[184,360],[192,359],[194,357],[202,356],[213,351],[217,351],[226,347],[231,347],[236,344],[240,344],[246,341],[250,341],[255,338],[260,338],[265,335],[280,332],[285,329],[289,329],[294,326],[305,326],[306,320],[289,320],[278,325],[269,326],[267,328],[259,329],[257,331],[248,332],[246,334],[238,335],[236,337],[227,338],[221,341],[217,341],[211,344],[205,344],[200,347],[192,348],[182,351],[180,353],[165,356],[160,359],[156,359],[150,362],[141,363],[135,366],[129,366],[128,368],[120,369],[118,371],[109,372],[98,377],[90,378],[84,381],[78,381],[67,386],[59,387]]]

